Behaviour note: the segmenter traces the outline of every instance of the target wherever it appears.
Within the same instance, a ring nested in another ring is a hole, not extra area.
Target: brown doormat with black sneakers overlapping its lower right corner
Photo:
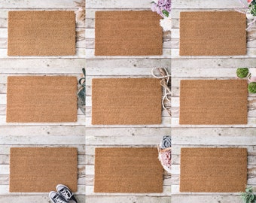
[[[60,183],[77,191],[76,148],[11,148],[10,192],[50,192]]]

